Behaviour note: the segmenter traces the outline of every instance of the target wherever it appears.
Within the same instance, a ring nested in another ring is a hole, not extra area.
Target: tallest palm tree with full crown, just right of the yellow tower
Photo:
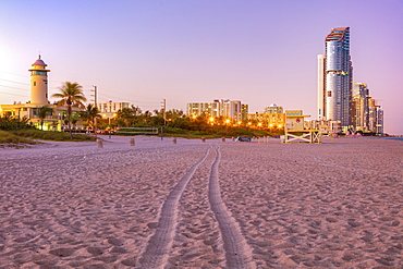
[[[65,82],[60,88],[59,94],[52,95],[53,98],[60,98],[58,101],[59,106],[68,106],[68,122],[69,122],[69,131],[70,131],[70,139],[73,139],[72,135],[72,107],[80,107],[84,108],[83,101],[87,99],[84,96],[83,87],[78,83],[71,83]]]

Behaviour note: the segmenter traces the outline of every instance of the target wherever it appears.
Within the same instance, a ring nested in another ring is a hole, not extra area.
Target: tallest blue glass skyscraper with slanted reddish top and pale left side
[[[333,28],[325,39],[325,54],[318,56],[319,120],[351,124],[353,68],[350,56],[350,27]]]

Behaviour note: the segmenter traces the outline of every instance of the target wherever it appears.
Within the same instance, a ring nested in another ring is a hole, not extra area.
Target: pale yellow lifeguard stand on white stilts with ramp
[[[308,126],[305,129],[304,115],[302,110],[285,111],[284,135],[281,143],[320,143],[319,130]]]

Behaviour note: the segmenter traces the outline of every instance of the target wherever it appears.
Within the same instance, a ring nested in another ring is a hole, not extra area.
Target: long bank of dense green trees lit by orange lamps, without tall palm
[[[164,136],[188,138],[278,136],[284,133],[282,129],[264,129],[257,122],[253,124],[248,121],[233,122],[224,117],[211,118],[208,114],[188,117],[178,109],[154,110],[152,113],[149,110],[143,112],[134,106],[119,110],[113,119],[100,119],[97,124],[100,130],[107,130],[109,126],[118,131],[114,135],[133,135],[130,132],[136,132],[127,127],[155,127],[159,131],[163,127]],[[120,127],[124,127],[124,132],[119,132]]]

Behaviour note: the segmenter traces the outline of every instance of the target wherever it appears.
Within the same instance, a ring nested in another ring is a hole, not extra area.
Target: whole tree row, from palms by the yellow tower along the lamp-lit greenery
[[[64,124],[68,125],[70,137],[72,138],[72,130],[78,120],[86,121],[89,129],[107,129],[107,127],[136,127],[136,126],[166,126],[167,129],[181,129],[187,131],[204,132],[207,134],[223,134],[229,135],[233,130],[248,129],[247,122],[239,123],[237,127],[233,127],[228,119],[223,117],[210,118],[208,114],[198,117],[185,115],[182,110],[162,109],[142,111],[139,107],[131,106],[123,108],[113,114],[113,118],[102,118],[101,112],[95,105],[84,105],[87,100],[83,93],[83,87],[77,83],[65,82],[60,88],[60,93],[53,94],[53,98],[58,98],[57,105],[66,107],[66,119]],[[73,117],[73,107],[81,108]],[[39,118],[42,129],[44,120],[52,114],[53,109],[49,106],[44,106],[38,109],[37,117]],[[26,119],[25,121],[27,121]]]

